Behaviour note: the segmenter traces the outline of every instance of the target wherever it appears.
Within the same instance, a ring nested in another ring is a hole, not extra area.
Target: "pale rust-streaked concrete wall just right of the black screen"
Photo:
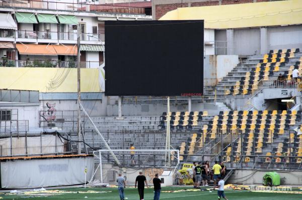
[[[205,85],[215,85],[239,64],[238,55],[205,56],[203,79]]]

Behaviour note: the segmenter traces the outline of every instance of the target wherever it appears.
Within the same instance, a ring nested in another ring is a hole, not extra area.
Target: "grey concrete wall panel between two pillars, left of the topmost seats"
[[[234,42],[236,55],[260,54],[260,29],[235,29]]]

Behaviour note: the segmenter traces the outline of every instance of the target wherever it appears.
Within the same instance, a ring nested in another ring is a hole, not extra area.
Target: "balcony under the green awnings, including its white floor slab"
[[[50,32],[50,31],[14,31],[0,30],[0,41],[31,42],[31,43],[65,43],[76,44],[78,33],[75,32]],[[102,44],[104,34],[81,33],[82,44]]]

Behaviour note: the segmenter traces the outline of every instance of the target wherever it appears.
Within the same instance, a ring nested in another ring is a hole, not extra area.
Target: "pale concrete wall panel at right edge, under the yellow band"
[[[302,25],[268,28],[267,34],[269,50],[302,49]]]

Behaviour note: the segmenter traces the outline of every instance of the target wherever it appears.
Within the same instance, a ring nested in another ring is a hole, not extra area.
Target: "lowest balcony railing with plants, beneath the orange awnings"
[[[81,68],[98,68],[103,62],[80,62]],[[77,61],[7,60],[0,59],[0,67],[77,68]]]

